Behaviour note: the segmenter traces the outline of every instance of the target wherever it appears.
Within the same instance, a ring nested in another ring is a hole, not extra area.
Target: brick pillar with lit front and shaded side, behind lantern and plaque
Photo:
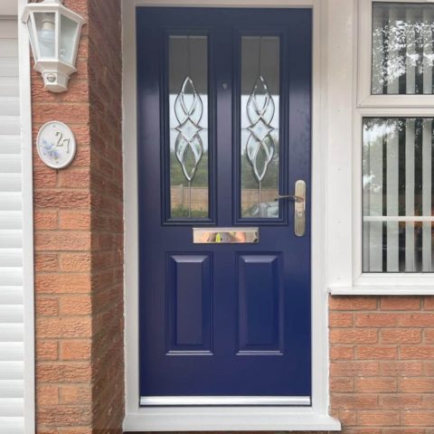
[[[67,92],[33,71],[33,137],[69,125],[55,171],[34,152],[36,405],[40,434],[121,432],[124,414],[120,0],[67,0],[82,15]]]

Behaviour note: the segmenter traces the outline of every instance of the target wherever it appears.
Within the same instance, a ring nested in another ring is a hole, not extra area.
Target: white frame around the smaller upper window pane
[[[357,107],[359,108],[401,108],[434,106],[434,95],[372,95],[371,71],[373,61],[372,16],[373,3],[433,3],[432,0],[359,0],[358,32],[358,83]]]

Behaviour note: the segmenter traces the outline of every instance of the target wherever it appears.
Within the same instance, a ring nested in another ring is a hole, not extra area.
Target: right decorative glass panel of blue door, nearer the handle
[[[278,36],[241,38],[241,217],[279,217]]]

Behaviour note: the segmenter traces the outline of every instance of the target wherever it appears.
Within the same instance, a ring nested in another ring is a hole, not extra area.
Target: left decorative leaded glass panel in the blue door
[[[170,218],[209,217],[207,37],[169,37]]]

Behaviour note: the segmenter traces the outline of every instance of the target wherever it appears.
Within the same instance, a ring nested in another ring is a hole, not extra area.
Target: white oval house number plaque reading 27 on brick
[[[53,169],[71,164],[76,151],[75,137],[71,128],[52,120],[42,125],[36,139],[36,148],[42,161]]]

